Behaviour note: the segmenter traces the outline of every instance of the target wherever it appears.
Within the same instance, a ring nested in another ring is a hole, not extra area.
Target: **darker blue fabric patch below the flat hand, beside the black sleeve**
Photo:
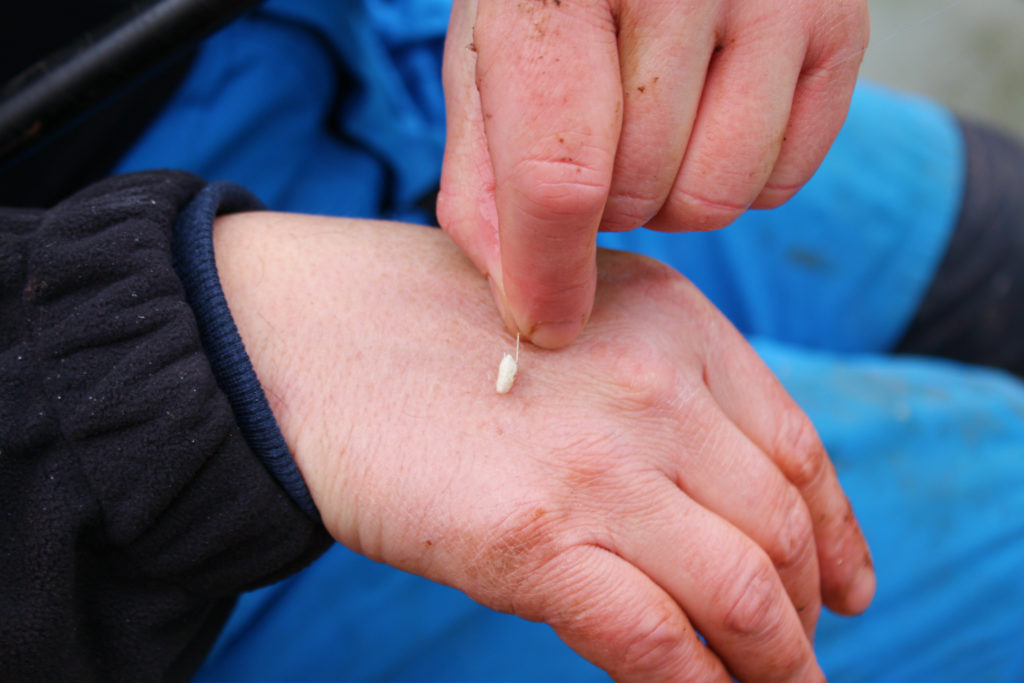
[[[199,681],[594,681],[547,626],[334,546],[243,596]]]

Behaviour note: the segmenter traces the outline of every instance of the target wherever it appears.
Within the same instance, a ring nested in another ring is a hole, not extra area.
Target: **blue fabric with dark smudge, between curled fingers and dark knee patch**
[[[686,274],[741,331],[814,348],[899,341],[959,212],[964,142],[953,116],[861,84],[821,168],[788,204],[727,229],[604,233]]]

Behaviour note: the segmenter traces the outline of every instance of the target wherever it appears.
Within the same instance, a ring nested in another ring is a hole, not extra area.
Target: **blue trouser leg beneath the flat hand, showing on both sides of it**
[[[938,360],[755,344],[817,425],[874,557],[870,609],[822,614],[829,680],[1021,680],[1024,385]],[[335,546],[243,597],[199,679],[606,677],[542,625]]]

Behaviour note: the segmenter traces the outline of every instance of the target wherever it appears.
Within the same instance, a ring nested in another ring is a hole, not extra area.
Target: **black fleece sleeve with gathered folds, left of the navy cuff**
[[[171,256],[205,183],[0,210],[0,680],[186,680],[330,543],[255,454]]]

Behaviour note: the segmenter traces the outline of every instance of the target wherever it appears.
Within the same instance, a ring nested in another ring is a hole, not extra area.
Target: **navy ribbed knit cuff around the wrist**
[[[316,506],[285,443],[234,327],[213,255],[214,218],[263,208],[263,204],[244,187],[230,182],[207,185],[175,223],[174,267],[199,322],[203,348],[217,384],[227,394],[243,435],[292,500],[310,518],[318,521]]]

